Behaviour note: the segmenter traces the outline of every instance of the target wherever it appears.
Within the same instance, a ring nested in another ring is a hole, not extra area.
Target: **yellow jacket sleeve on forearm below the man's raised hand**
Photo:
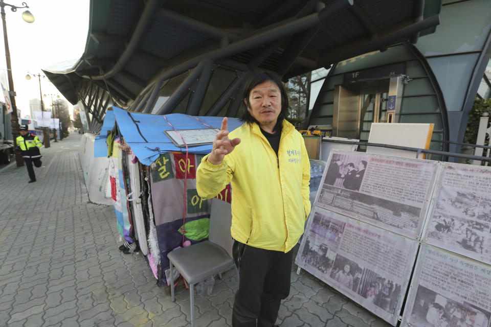
[[[204,199],[211,199],[220,193],[233,176],[233,157],[231,154],[225,156],[218,165],[208,161],[207,154],[201,160],[196,170],[196,191]]]

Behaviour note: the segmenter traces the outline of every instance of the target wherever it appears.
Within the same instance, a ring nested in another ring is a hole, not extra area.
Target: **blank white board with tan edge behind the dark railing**
[[[388,124],[372,123],[369,143],[405,146],[410,148],[428,149],[434,124]],[[417,152],[367,146],[367,153],[396,155],[416,158]],[[420,156],[421,158],[423,156]]]

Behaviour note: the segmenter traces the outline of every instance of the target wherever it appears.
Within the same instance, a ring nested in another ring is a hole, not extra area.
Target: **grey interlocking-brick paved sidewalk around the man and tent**
[[[41,149],[37,182],[15,162],[0,170],[0,326],[187,326],[189,291],[155,279],[143,256],[123,254],[113,207],[88,200],[78,134]],[[292,267],[278,322],[295,326],[389,326],[317,278]],[[233,271],[197,295],[196,326],[230,326]]]

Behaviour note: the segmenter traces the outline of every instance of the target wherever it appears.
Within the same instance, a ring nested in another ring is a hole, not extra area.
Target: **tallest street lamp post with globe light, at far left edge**
[[[0,13],[2,14],[2,25],[4,29],[4,45],[5,45],[5,59],[7,61],[7,76],[9,79],[9,96],[10,96],[10,104],[12,106],[12,114],[10,116],[10,121],[12,124],[12,136],[14,138],[14,145],[15,147],[15,161],[17,162],[17,167],[24,166],[24,159],[22,158],[22,155],[20,154],[20,151],[17,149],[17,136],[20,135],[19,133],[19,118],[17,116],[17,106],[15,104],[15,91],[14,91],[14,80],[12,78],[12,67],[10,65],[10,50],[9,50],[9,40],[7,37],[7,22],[5,21],[5,6],[9,6],[12,11],[17,11],[17,9],[20,8],[29,8],[29,6],[23,2],[22,5],[24,7],[16,7],[13,5],[9,5],[5,3],[3,0],[0,0]],[[26,22],[33,22],[34,21],[34,16],[26,10],[22,14],[22,19],[24,19]]]

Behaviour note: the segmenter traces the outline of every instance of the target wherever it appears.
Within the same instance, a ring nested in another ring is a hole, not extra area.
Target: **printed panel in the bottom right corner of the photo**
[[[489,327],[491,267],[423,244],[401,326]]]

